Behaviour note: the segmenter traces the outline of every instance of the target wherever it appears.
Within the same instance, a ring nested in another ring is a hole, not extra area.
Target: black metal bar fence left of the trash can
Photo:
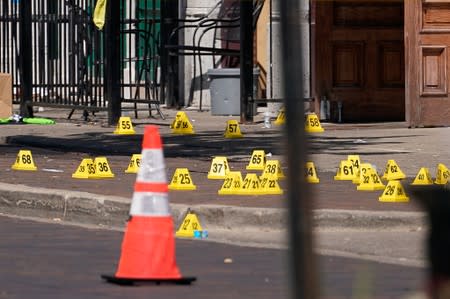
[[[96,2],[1,0],[0,72],[11,74],[21,114],[108,110],[112,124],[125,109],[137,117],[138,103],[160,112],[159,0],[109,1],[102,30]]]

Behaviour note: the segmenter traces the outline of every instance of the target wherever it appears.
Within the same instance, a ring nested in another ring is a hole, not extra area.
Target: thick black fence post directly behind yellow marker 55
[[[121,116],[120,95],[120,5],[108,1],[105,20],[105,98],[108,101],[108,124]]]

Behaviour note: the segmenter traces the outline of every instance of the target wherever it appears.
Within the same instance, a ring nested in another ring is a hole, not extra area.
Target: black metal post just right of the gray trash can
[[[241,122],[253,122],[253,1],[240,1]]]

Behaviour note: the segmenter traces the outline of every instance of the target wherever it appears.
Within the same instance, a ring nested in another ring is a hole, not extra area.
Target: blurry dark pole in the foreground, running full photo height
[[[305,0],[302,0],[305,1]],[[282,66],[286,108],[289,256],[292,298],[318,298],[317,266],[313,255],[312,195],[303,173],[308,152],[304,128],[303,47],[300,1],[280,0]]]

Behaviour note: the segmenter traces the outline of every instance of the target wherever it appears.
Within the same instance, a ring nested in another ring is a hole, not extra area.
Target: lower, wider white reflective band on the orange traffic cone
[[[171,216],[167,193],[134,192],[130,215]]]

